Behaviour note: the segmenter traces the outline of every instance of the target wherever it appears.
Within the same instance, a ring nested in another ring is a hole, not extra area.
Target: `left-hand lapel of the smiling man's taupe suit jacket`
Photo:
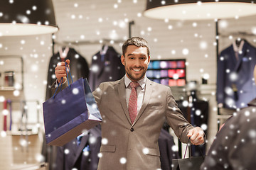
[[[132,121],[129,118],[129,111],[127,108],[127,101],[126,101],[126,97],[125,97],[125,84],[124,84],[124,77],[122,79],[120,79],[118,86],[117,86],[117,90],[118,90],[118,95],[119,95],[119,101],[122,105],[122,108],[124,110],[124,113],[127,117],[127,120],[129,121],[129,123],[132,125]]]

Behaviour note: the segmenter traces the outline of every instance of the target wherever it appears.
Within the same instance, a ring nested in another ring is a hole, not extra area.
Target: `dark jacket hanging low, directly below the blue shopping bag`
[[[58,147],[55,170],[97,170],[101,140],[100,125],[97,125],[82,137],[80,145],[75,138],[63,147]]]

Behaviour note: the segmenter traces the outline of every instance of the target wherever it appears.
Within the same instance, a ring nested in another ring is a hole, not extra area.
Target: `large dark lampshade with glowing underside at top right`
[[[157,19],[205,20],[256,14],[251,0],[147,0],[144,16]]]

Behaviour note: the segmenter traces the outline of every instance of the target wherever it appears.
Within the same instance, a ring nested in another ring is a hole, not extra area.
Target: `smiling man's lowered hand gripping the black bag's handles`
[[[191,143],[193,145],[202,145],[204,143],[204,132],[201,128],[196,127],[188,131],[188,137],[191,137]]]

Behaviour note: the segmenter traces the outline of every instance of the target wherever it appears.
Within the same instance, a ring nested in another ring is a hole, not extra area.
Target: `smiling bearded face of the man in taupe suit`
[[[146,74],[150,56],[147,56],[146,47],[129,45],[125,56],[121,56],[121,61],[125,67],[127,77],[132,81],[139,81]]]

